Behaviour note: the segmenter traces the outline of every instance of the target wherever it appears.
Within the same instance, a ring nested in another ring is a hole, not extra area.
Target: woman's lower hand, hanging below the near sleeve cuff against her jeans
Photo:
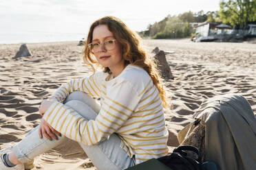
[[[39,127],[40,138],[43,138],[43,136],[45,136],[45,138],[49,139],[50,141],[52,141],[52,138],[58,140],[58,136],[56,136],[56,134],[58,134],[58,136],[61,136],[60,132],[54,130],[54,128],[51,125],[49,125],[45,121],[45,119],[42,119]]]

